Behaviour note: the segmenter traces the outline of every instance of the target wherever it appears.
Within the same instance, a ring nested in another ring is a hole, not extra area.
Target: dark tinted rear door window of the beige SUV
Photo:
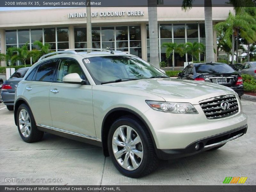
[[[36,72],[36,81],[53,81],[58,60],[50,60],[40,65]]]

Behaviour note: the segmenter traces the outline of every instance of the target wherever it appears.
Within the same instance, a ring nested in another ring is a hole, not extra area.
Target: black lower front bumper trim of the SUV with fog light
[[[190,145],[188,145],[188,147],[186,147],[186,148],[157,149],[156,154],[157,154],[158,158],[164,159],[164,160],[180,158],[180,157],[184,157],[184,156],[191,156],[191,155],[195,155],[197,153],[209,150],[211,148],[220,146],[224,143],[227,143],[230,140],[234,140],[238,137],[241,137],[246,132],[247,132],[247,124],[242,127],[228,131],[228,132],[223,132],[223,133],[220,133],[217,135],[206,137],[201,140],[197,140],[197,141],[191,143]],[[199,146],[198,149],[196,149],[196,145]]]

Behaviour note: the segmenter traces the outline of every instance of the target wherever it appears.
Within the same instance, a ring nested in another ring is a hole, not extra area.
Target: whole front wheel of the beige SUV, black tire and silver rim
[[[123,175],[138,178],[154,171],[157,156],[145,125],[133,116],[118,118],[110,127],[108,151]]]

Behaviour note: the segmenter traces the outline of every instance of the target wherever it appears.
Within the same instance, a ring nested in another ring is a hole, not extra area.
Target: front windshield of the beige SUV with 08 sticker
[[[96,84],[116,80],[167,77],[148,62],[132,56],[102,56],[84,59]]]

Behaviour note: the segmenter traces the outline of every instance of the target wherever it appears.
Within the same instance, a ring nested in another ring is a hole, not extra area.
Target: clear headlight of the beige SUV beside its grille
[[[172,103],[160,101],[147,101],[146,103],[156,111],[167,113],[185,113],[185,114],[198,114],[196,108],[190,103]]]

